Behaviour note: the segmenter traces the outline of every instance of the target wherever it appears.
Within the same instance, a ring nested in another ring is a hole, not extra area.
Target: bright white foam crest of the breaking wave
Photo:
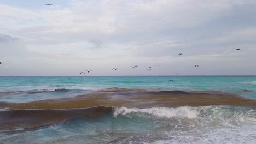
[[[167,107],[152,107],[148,109],[137,109],[137,108],[127,108],[127,107],[115,107],[113,115],[117,117],[118,115],[127,115],[132,112],[148,113],[156,117],[179,117],[179,118],[196,118],[199,115],[199,111],[195,107],[182,106],[176,108]]]

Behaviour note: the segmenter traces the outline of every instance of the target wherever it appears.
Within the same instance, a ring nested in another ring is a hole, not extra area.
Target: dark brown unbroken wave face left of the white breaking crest
[[[60,123],[67,123],[76,118],[97,118],[111,113],[112,107],[90,107],[86,109],[33,109],[0,111],[0,130],[34,129]]]

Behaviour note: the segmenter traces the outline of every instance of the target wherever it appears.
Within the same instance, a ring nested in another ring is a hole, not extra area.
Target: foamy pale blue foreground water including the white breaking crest
[[[117,107],[100,117],[0,135],[4,143],[254,143],[255,128],[252,107]]]

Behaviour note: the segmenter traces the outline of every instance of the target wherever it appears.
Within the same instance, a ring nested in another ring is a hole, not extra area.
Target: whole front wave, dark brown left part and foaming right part
[[[161,121],[168,121],[174,125],[179,125],[179,127],[202,127],[203,125],[232,127],[234,125],[256,123],[255,113],[255,107],[238,106],[181,106],[151,107],[146,109],[138,109],[137,107],[128,108],[124,106],[96,106],[86,109],[2,109],[0,110],[0,130],[33,130],[56,124],[70,123],[75,119],[85,121],[83,119],[84,117],[98,118],[100,121],[104,121],[100,117],[106,114],[108,116],[112,115],[112,117],[109,117],[110,119],[107,118],[110,122],[124,121],[124,119],[120,120],[120,116],[127,117],[128,119],[125,121],[133,121],[133,117],[137,117],[136,119],[146,118],[148,119],[147,121],[152,121],[152,118],[147,117],[149,115],[158,119],[160,118],[162,119]]]

